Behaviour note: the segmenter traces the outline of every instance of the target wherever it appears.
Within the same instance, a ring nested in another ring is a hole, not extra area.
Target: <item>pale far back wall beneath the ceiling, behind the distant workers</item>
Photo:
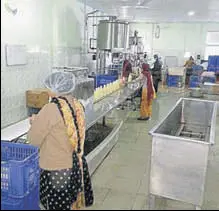
[[[179,65],[184,63],[185,52],[193,55],[205,53],[208,31],[219,31],[219,23],[160,23],[160,38],[154,36],[156,24],[133,23],[132,30],[138,30],[149,53],[161,56],[177,56]]]

